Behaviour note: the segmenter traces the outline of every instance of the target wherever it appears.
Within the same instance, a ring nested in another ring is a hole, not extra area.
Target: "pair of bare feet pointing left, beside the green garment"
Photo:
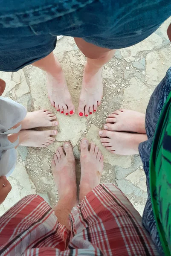
[[[147,140],[145,114],[127,109],[115,111],[106,119],[99,136],[102,145],[113,154],[138,154],[139,143]]]

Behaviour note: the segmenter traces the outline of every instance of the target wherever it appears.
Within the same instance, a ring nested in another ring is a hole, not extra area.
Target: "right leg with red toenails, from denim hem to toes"
[[[75,38],[78,48],[87,56],[80,94],[78,115],[88,116],[97,111],[103,96],[102,67],[110,61],[115,50],[97,47],[81,38]]]

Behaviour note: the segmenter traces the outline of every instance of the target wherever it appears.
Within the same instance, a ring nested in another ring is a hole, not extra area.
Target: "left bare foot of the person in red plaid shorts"
[[[64,153],[65,151],[65,153]],[[52,159],[52,173],[60,199],[72,198],[77,204],[77,186],[75,175],[75,158],[72,147],[64,143],[64,151],[59,147]]]

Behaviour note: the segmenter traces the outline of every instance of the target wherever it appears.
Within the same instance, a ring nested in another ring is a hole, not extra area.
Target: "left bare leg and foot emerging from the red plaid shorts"
[[[70,229],[68,215],[78,204],[75,158],[69,143],[64,143],[64,151],[62,147],[59,147],[52,160],[52,173],[59,194],[59,201],[53,210],[58,221]]]

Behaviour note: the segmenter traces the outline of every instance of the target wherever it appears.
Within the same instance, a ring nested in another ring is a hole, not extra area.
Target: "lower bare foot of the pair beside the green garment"
[[[147,140],[146,134],[132,134],[119,131],[99,131],[102,145],[113,154],[138,154],[139,143]]]

